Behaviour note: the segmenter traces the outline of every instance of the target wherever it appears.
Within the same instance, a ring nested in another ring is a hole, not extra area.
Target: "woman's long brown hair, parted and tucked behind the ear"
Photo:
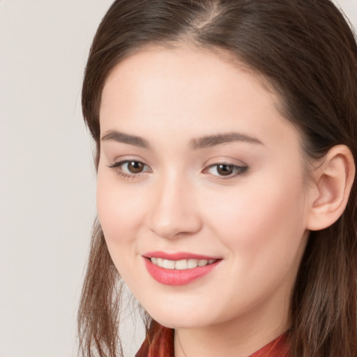
[[[93,40],[82,109],[100,151],[105,80],[126,56],[153,43],[222,49],[263,75],[302,133],[307,157],[345,144],[357,159],[357,46],[328,0],[117,0]],[[292,357],[357,354],[357,182],[335,224],[310,234],[291,298]],[[121,278],[95,223],[79,307],[84,356],[121,356]],[[146,315],[146,322],[149,317]]]

